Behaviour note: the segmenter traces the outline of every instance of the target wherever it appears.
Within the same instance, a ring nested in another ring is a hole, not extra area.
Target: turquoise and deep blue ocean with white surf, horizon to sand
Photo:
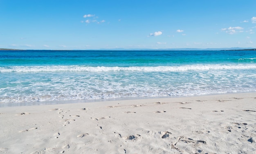
[[[256,51],[0,50],[0,103],[256,92]]]

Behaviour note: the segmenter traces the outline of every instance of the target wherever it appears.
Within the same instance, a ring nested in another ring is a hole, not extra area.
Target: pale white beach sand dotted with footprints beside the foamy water
[[[0,107],[2,154],[255,154],[256,93]]]

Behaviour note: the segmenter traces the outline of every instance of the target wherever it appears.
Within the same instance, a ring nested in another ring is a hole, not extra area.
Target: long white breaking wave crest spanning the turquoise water
[[[193,71],[193,70],[209,70],[209,69],[256,69],[255,64],[247,65],[182,65],[182,66],[156,66],[156,67],[88,67],[88,66],[13,66],[0,67],[0,72],[55,72],[55,71]]]

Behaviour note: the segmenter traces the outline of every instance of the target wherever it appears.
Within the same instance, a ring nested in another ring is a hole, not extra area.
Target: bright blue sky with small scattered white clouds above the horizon
[[[256,0],[0,0],[0,48],[256,48]]]

